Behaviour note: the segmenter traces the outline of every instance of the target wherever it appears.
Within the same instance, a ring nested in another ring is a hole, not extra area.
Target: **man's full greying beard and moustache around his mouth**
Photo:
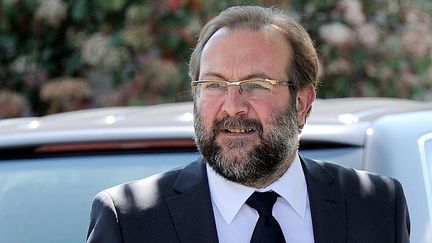
[[[294,107],[292,105],[273,119],[266,136],[259,121],[244,117],[216,120],[212,129],[206,129],[201,115],[194,108],[195,143],[206,162],[224,178],[247,186],[267,184],[277,179],[277,172],[289,167],[287,163],[291,163],[290,158],[297,151],[299,128]],[[238,151],[248,147],[250,141],[229,139],[224,141],[222,148],[216,144],[216,136],[224,127],[230,126],[252,127],[258,132],[261,142],[242,153]],[[240,155],[234,156],[231,151]]]

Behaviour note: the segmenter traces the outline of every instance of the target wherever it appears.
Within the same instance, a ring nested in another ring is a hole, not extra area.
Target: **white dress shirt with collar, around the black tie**
[[[249,243],[259,215],[245,202],[254,191],[271,190],[281,196],[273,207],[273,216],[286,242],[314,242],[306,179],[298,155],[285,174],[266,188],[228,181],[208,164],[207,174],[219,242]]]

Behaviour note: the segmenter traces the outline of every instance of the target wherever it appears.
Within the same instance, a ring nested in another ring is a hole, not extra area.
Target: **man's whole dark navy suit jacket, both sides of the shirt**
[[[301,163],[316,243],[409,242],[398,181],[305,158]],[[204,163],[100,192],[87,242],[218,242]]]

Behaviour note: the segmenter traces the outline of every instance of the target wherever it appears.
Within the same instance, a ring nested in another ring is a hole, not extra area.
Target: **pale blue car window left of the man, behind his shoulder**
[[[187,164],[197,152],[0,161],[0,241],[84,242],[95,194]]]

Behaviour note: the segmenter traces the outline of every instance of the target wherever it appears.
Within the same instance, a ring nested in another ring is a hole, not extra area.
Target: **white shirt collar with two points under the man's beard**
[[[306,179],[298,155],[277,181],[261,189],[229,181],[217,174],[208,164],[206,167],[212,201],[228,225],[255,191],[273,190],[277,192],[300,217],[305,217],[308,195]]]

